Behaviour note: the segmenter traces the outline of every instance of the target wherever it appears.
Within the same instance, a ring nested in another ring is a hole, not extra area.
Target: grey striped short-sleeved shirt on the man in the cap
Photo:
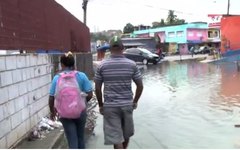
[[[104,59],[95,73],[95,82],[103,83],[104,106],[132,105],[132,81],[142,80],[136,63],[123,55]]]

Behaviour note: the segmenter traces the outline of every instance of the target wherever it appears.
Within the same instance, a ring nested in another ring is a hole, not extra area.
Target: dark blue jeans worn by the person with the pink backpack
[[[70,149],[84,149],[84,131],[87,119],[86,111],[77,119],[60,118]]]

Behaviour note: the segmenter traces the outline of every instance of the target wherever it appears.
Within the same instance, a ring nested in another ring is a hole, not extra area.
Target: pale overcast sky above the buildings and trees
[[[83,0],[55,0],[83,22]],[[87,26],[90,32],[123,30],[127,23],[152,26],[174,10],[187,22],[209,21],[208,14],[226,14],[228,0],[89,0]],[[230,0],[230,14],[240,15],[240,0]]]

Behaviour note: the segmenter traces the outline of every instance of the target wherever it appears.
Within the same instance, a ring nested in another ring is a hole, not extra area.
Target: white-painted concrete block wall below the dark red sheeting
[[[49,113],[47,55],[0,56],[0,148],[10,148]]]

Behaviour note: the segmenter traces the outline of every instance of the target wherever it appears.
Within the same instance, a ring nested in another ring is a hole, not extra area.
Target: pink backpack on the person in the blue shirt
[[[60,73],[55,95],[55,108],[60,117],[75,119],[86,109],[85,98],[76,79],[77,71]]]

